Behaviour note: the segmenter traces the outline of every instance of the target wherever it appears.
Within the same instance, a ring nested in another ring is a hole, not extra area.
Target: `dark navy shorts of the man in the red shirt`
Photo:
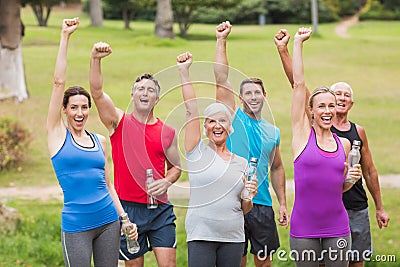
[[[144,255],[152,247],[176,248],[176,216],[171,203],[159,204],[147,209],[146,204],[121,200],[122,207],[131,222],[138,227],[139,252],[130,254],[126,249],[125,236],[121,236],[120,260],[133,260]]]

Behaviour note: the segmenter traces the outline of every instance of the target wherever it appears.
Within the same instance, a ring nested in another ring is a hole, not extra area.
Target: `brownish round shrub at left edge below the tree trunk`
[[[0,171],[21,163],[30,141],[31,134],[20,123],[0,118]]]

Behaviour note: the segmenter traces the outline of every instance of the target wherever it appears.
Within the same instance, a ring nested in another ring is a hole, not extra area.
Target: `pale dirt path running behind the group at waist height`
[[[381,175],[379,177],[381,188],[400,188],[400,174]],[[286,181],[287,194],[293,194],[293,179]],[[189,182],[177,182],[168,190],[171,199],[188,199]],[[26,187],[0,187],[0,201],[9,198],[62,200],[63,194],[60,186],[26,186]]]

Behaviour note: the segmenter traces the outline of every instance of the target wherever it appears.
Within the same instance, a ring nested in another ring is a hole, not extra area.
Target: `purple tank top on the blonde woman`
[[[346,153],[336,134],[337,149],[317,145],[314,128],[303,152],[294,161],[295,200],[290,235],[296,238],[340,237],[350,234],[342,201]]]

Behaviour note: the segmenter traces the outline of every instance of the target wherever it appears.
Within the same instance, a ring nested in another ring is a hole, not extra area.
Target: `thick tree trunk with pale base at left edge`
[[[0,0],[0,99],[28,98],[22,60],[20,0]]]

